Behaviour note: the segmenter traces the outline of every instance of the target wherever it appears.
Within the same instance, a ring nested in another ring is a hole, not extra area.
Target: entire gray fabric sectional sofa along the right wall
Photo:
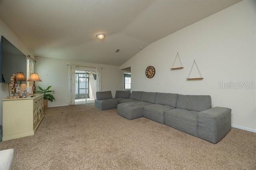
[[[100,100],[97,95],[95,100],[95,106],[99,109],[115,107],[118,115],[126,119],[146,117],[214,144],[231,130],[231,109],[211,108],[212,100],[209,95],[132,91],[128,97],[119,91],[116,99],[112,99],[111,92],[99,93],[102,93],[98,94]],[[116,103],[113,104],[112,100],[116,100]]]

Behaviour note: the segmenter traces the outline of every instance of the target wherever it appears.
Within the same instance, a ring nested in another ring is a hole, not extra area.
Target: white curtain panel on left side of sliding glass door
[[[69,104],[75,105],[76,99],[76,66],[68,66]]]

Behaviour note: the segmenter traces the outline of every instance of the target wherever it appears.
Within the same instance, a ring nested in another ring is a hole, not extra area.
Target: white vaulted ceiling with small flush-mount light
[[[0,0],[0,18],[35,56],[122,65],[139,47],[239,1]]]

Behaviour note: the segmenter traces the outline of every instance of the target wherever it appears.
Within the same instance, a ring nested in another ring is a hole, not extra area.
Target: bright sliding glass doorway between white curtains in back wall
[[[75,103],[93,103],[96,99],[96,71],[76,70]]]

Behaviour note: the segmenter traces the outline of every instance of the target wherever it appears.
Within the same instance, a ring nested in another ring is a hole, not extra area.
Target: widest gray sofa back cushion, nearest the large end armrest
[[[210,109],[211,105],[209,95],[178,95],[176,108],[201,112]]]

